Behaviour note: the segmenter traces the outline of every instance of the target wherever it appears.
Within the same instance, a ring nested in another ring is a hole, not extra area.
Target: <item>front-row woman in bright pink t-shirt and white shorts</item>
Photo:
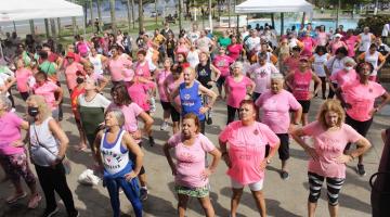
[[[264,171],[268,162],[280,146],[280,139],[266,125],[256,122],[256,117],[255,103],[244,100],[239,106],[240,120],[229,124],[219,136],[222,157],[229,167],[227,175],[232,182],[231,216],[236,216],[244,187],[247,184],[260,215],[266,216],[262,192]],[[264,157],[266,144],[270,144],[271,151]]]

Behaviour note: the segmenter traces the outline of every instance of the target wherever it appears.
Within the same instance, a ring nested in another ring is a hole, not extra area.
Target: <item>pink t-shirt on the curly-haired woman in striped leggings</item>
[[[336,158],[347,143],[356,142],[362,136],[347,124],[341,124],[338,130],[326,130],[318,122],[304,126],[303,132],[313,137],[313,148],[320,156],[318,161],[309,161],[308,170],[324,177],[346,178],[346,164],[338,164]]]

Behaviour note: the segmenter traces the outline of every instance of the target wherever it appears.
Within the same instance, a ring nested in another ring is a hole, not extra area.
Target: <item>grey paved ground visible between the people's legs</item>
[[[14,92],[16,92],[14,90]],[[105,93],[107,95],[107,93]],[[315,118],[315,113],[321,99],[314,99],[311,107],[310,119]],[[17,99],[17,112],[24,112],[22,102]],[[109,199],[106,189],[100,183],[98,187],[84,187],[77,182],[78,175],[87,167],[91,166],[91,154],[83,152],[76,152],[75,146],[79,142],[76,126],[74,125],[73,116],[70,115],[69,99],[65,99],[65,118],[62,122],[62,127],[70,139],[70,146],[67,152],[68,157],[73,162],[72,175],[67,177],[77,208],[81,216],[106,217],[112,215]],[[171,176],[169,166],[162,154],[162,144],[169,136],[169,131],[160,131],[159,124],[161,123],[161,108],[158,105],[158,112],[154,116],[154,135],[156,138],[156,145],[151,148],[144,146],[145,152],[145,168],[147,171],[147,180],[150,188],[148,200],[144,203],[145,216],[169,217],[176,215],[177,197],[172,192],[173,177]],[[221,101],[217,102],[214,107],[214,124],[206,127],[207,136],[217,144],[217,136],[225,126],[226,108]],[[381,155],[382,142],[380,140],[380,130],[390,126],[389,116],[377,115],[374,124],[367,136],[368,140],[373,142],[373,149],[366,154],[365,165],[367,176],[359,177],[354,171],[355,163],[348,165],[347,181],[340,193],[340,216],[343,217],[364,217],[370,216],[370,188],[368,179],[372,174],[377,170],[378,162]],[[306,203],[308,197],[308,182],[307,182],[307,163],[308,156],[295,143],[291,144],[291,158],[289,161],[290,178],[282,180],[278,175],[280,161],[275,157],[272,164],[268,167],[264,193],[266,197],[266,206],[269,216],[277,217],[296,217],[306,216]],[[211,182],[211,199],[216,208],[217,216],[229,216],[230,209],[230,181],[225,175],[226,166],[221,162],[218,166],[217,173],[210,178]],[[0,174],[0,179],[3,174]],[[44,209],[44,203],[41,203],[35,210],[27,208],[27,200],[21,200],[16,204],[10,206],[4,202],[4,199],[12,193],[10,182],[0,183],[0,217],[29,217],[39,216]],[[123,194],[121,199],[121,210],[123,216],[132,215],[132,208]],[[43,201],[42,201],[43,202]],[[62,204],[62,202],[60,202]],[[57,216],[66,216],[63,205],[60,205],[61,214]],[[258,216],[253,200],[246,189],[238,209],[238,216]],[[196,200],[192,200],[188,205],[187,216],[204,216],[200,206]],[[317,216],[328,216],[326,192],[323,191],[322,197],[318,201]]]

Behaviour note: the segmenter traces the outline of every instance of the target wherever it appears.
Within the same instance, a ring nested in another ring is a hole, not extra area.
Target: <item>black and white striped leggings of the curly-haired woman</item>
[[[325,177],[311,171],[308,173],[308,176],[309,176],[309,190],[310,190],[309,202],[316,203],[320,199],[321,187],[324,183]],[[338,205],[339,192],[344,181],[346,181],[344,178],[326,177],[327,196],[330,206]]]

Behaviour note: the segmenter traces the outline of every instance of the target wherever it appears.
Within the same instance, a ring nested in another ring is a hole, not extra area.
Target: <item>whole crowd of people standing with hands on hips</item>
[[[356,173],[365,175],[363,156],[372,145],[365,137],[375,114],[390,102],[378,82],[390,49],[368,27],[356,34],[340,26],[333,33],[308,24],[277,37],[265,24],[245,26],[239,33],[223,30],[216,37],[208,29],[198,30],[197,24],[179,35],[165,24],[152,35],[142,30],[135,40],[120,30],[90,39],[76,36],[65,49],[51,39],[21,40],[14,33],[3,50],[0,163],[15,188],[6,202],[27,195],[22,177],[30,190],[28,207],[37,207],[42,199],[39,180],[46,217],[58,212],[54,192],[69,217],[79,216],[65,176],[69,140],[61,122],[66,92],[79,135],[77,149],[92,151],[90,162],[102,174],[115,217],[120,216],[119,191],[135,216],[143,215],[148,191],[141,148],[156,144],[152,130],[160,110],[156,99],[162,110],[160,130],[172,126],[164,153],[174,176],[178,215],[185,216],[188,199],[196,197],[209,217],[216,216],[209,178],[221,159],[229,167],[231,216],[236,216],[245,186],[259,214],[266,216],[265,168],[277,152],[281,178],[289,178],[289,138],[310,156],[308,216],[315,214],[324,180],[329,215],[338,216],[346,163],[359,157]],[[25,101],[23,117],[15,113],[14,85]],[[108,87],[109,97],[104,93]],[[314,98],[324,102],[316,119],[310,120]],[[206,131],[206,125],[213,124],[217,101],[226,106],[218,146]],[[210,162],[207,155],[212,156]]]

